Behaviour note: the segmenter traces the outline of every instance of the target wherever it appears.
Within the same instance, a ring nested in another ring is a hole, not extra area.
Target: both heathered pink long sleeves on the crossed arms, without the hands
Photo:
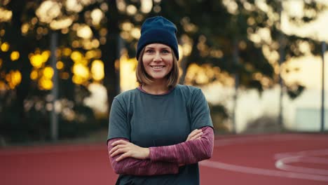
[[[149,159],[140,160],[136,158],[125,158],[116,161],[121,155],[109,156],[111,167],[117,174],[132,175],[154,175],[154,174],[176,174],[179,171],[179,164],[193,164],[200,160],[205,160],[212,156],[214,132],[206,126],[202,128],[203,135],[200,139],[195,139],[170,146],[154,146],[149,148]],[[108,141],[108,151],[113,149],[111,144],[119,139],[114,138]]]

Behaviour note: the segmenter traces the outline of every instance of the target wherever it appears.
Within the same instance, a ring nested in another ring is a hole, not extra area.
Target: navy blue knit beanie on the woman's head
[[[163,43],[172,48],[177,60],[179,60],[176,33],[177,27],[170,20],[161,16],[146,19],[142,24],[141,36],[137,45],[137,59],[144,46],[150,43]]]

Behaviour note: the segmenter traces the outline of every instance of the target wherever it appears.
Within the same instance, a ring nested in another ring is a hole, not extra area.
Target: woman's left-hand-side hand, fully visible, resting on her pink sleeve
[[[124,158],[137,158],[137,159],[149,158],[148,148],[142,148],[140,146],[132,144],[131,142],[118,140],[112,143],[111,146],[114,146],[114,148],[111,149],[111,151],[109,151],[109,155],[111,155],[111,157],[114,157],[118,154],[122,154],[121,156],[116,158],[116,161],[120,161]]]

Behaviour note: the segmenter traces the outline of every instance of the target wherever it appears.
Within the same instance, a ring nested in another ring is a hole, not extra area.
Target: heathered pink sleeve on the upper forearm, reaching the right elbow
[[[149,148],[151,161],[167,161],[179,164],[193,164],[212,157],[214,146],[214,132],[209,126],[202,128],[200,139],[182,142],[170,146],[156,146]]]

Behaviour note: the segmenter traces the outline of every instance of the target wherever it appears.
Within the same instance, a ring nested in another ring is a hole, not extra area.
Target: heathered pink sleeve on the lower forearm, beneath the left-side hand
[[[111,144],[117,140],[125,140],[124,138],[109,139],[107,142],[108,153],[111,151],[113,146]],[[132,175],[156,175],[156,174],[177,174],[179,172],[179,165],[177,163],[168,162],[154,162],[151,160],[139,160],[135,158],[125,158],[121,161],[116,162],[116,158],[121,155],[109,156],[111,167],[116,174],[132,174]]]

